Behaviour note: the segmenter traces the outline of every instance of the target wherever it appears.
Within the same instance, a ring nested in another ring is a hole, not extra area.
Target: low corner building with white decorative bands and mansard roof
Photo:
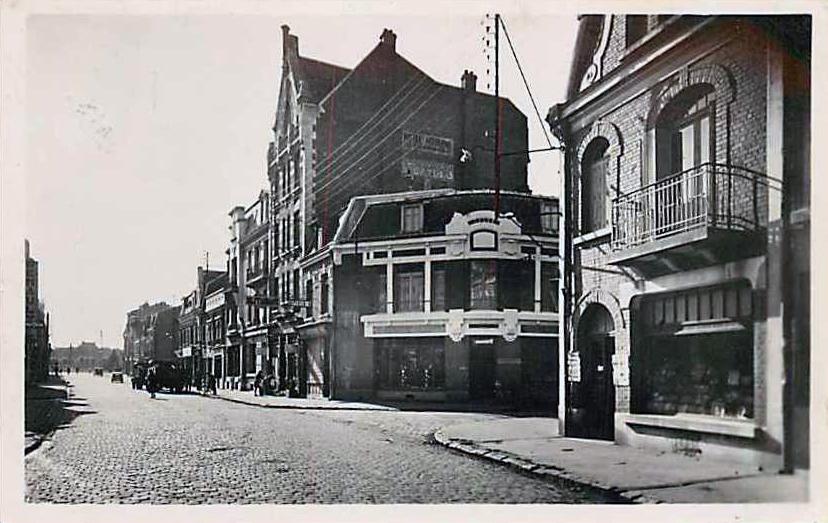
[[[557,408],[557,202],[502,192],[498,220],[493,198],[351,200],[328,254],[334,397]]]

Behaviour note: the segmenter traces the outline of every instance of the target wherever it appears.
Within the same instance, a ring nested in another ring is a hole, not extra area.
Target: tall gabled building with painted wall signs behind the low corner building
[[[376,47],[348,69],[302,56],[298,38],[282,26],[282,79],[268,150],[268,298],[276,344],[270,359],[280,387],[295,382],[309,395],[330,392],[327,370],[318,368],[326,356],[306,353],[317,350],[310,348],[317,341],[305,343],[296,326],[309,299],[332,289],[325,249],[353,197],[494,187],[498,111],[501,150],[513,153],[502,158],[501,187],[528,192],[526,117],[509,100],[498,103],[478,91],[471,71],[457,87],[433,80],[397,53],[396,38],[384,30]]]

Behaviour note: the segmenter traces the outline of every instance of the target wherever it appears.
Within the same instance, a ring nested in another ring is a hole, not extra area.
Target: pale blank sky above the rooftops
[[[267,186],[280,25],[308,56],[353,67],[397,33],[434,79],[485,90],[483,11],[466,16],[32,16],[27,25],[26,236],[40,261],[52,344],[121,347],[128,310],[177,304],[196,267],[224,265],[228,211]],[[542,116],[562,101],[574,15],[505,16]],[[506,47],[501,92],[541,125]],[[553,139],[554,140],[554,139]],[[534,192],[558,193],[558,155],[532,156]]]

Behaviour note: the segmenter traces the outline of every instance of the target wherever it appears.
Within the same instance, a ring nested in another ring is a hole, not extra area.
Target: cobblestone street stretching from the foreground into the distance
[[[128,381],[128,380],[127,380]],[[264,409],[72,375],[86,412],[26,458],[26,499],[54,503],[589,503],[432,444],[487,414]]]

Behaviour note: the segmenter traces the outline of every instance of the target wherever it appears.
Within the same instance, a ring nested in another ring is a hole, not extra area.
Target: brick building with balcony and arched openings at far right
[[[567,434],[807,466],[810,38],[808,17],[581,18],[549,114]]]

